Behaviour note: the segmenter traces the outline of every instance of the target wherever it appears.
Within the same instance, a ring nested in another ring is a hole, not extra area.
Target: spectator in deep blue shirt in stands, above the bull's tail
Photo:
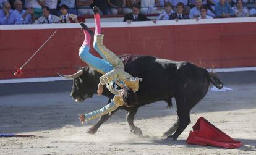
[[[226,2],[226,0],[220,0],[215,4],[215,15],[218,18],[233,17],[234,11],[231,9],[231,6]]]

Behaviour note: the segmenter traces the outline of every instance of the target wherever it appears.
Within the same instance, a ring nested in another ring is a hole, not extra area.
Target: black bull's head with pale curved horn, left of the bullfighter
[[[94,70],[89,67],[80,68],[72,75],[59,74],[59,76],[73,80],[70,96],[75,100],[75,102],[80,103],[87,98],[92,98],[93,94],[96,93],[99,77],[97,77]]]

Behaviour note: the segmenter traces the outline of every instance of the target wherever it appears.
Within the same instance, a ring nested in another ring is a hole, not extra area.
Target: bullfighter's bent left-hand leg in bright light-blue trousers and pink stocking
[[[109,64],[109,62],[105,61],[104,59],[100,59],[98,57],[93,56],[92,54],[90,54],[90,40],[91,40],[91,36],[93,33],[88,27],[87,25],[85,25],[84,23],[80,23],[80,25],[83,28],[83,33],[85,35],[85,40],[83,41],[82,46],[80,47],[79,50],[79,56],[80,58],[87,63],[88,65],[90,65],[91,67],[93,67],[95,70],[97,70],[100,73],[107,73],[110,70],[113,69],[112,65]]]

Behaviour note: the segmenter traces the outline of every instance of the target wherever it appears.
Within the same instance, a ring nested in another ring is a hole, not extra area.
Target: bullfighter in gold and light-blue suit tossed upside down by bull
[[[104,35],[101,33],[99,11],[100,9],[98,9],[98,7],[93,7],[95,19],[93,48],[103,59],[90,54],[90,40],[93,37],[93,31],[84,23],[80,23],[83,33],[85,34],[85,40],[80,47],[79,56],[85,63],[103,74],[98,84],[98,95],[103,92],[103,85],[106,85],[106,88],[108,88],[111,93],[115,94],[115,96],[111,100],[111,103],[107,104],[105,107],[85,115],[80,114],[79,119],[82,123],[108,114],[116,110],[119,106],[126,105],[130,107],[135,103],[135,92],[139,90],[139,81],[142,80],[142,78],[134,78],[132,75],[125,72],[122,60],[103,45]],[[117,90],[116,84],[121,87],[121,89]]]

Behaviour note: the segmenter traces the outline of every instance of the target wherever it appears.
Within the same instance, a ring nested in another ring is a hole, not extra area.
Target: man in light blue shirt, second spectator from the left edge
[[[22,1],[16,0],[14,2],[14,13],[15,18],[17,18],[17,21],[15,24],[32,24],[35,22],[34,17],[34,10],[32,8],[29,8],[27,10],[22,10]]]

